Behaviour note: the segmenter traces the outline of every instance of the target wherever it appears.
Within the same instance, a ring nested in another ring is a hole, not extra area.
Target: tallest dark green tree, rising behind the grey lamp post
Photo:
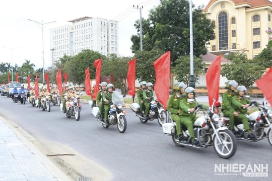
[[[161,6],[152,9],[149,18],[143,20],[143,50],[158,48],[171,51],[172,65],[179,56],[190,53],[189,2],[187,0],[165,0]],[[140,25],[134,27],[139,32],[132,35],[132,53],[140,50]],[[196,57],[206,54],[207,42],[215,39],[215,25],[207,19],[201,9],[193,10],[193,53]]]

